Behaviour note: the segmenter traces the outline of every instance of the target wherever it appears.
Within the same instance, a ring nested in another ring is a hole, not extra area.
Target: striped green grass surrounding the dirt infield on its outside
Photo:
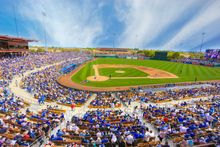
[[[177,75],[179,78],[175,79],[110,79],[104,82],[88,82],[87,86],[95,87],[113,87],[113,86],[132,86],[132,85],[148,85],[148,84],[162,84],[162,83],[178,83],[206,80],[220,80],[220,68],[205,67],[199,65],[183,64],[168,61],[158,60],[131,60],[131,59],[112,59],[112,58],[98,58],[97,60],[86,64],[80,71],[78,71],[72,80],[81,83],[86,80],[88,76],[94,75],[92,68],[93,64],[126,64],[138,65],[152,68],[158,68]],[[182,72],[181,72],[182,70]]]

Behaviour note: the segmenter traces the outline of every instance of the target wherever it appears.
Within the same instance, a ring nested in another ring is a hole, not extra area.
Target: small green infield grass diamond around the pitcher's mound
[[[124,73],[117,73],[116,71],[124,71]],[[134,68],[100,68],[99,74],[101,76],[112,77],[146,77],[148,74],[134,69]]]

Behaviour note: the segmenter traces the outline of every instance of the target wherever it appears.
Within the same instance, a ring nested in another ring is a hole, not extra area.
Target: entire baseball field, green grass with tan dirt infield
[[[68,76],[77,85],[123,87],[220,80],[220,68],[158,60],[97,58]]]

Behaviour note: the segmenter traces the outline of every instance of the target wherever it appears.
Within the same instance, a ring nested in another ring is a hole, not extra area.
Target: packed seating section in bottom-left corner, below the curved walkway
[[[64,120],[64,114],[44,109],[37,114],[6,113],[0,115],[1,146],[30,146]]]

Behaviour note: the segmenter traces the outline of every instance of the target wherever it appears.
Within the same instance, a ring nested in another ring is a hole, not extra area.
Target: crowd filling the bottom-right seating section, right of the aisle
[[[144,119],[159,131],[160,139],[169,138],[180,146],[220,144],[220,97],[182,102],[173,107],[145,106]]]

